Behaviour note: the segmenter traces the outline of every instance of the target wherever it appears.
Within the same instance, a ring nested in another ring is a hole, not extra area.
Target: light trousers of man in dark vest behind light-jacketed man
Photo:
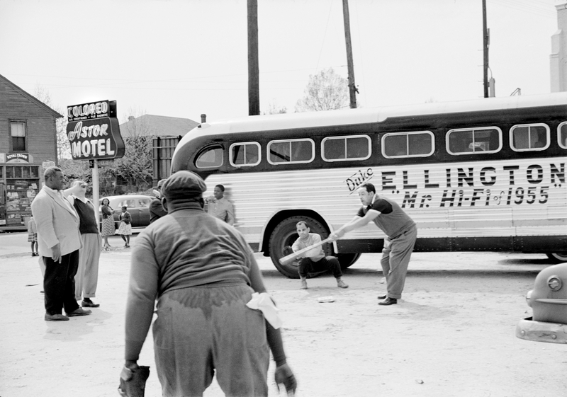
[[[79,267],[75,275],[75,299],[96,297],[99,283],[99,259],[102,238],[98,233],[81,234],[83,247],[79,249]]]

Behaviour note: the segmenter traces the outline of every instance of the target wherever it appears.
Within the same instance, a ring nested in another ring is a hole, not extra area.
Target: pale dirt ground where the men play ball
[[[385,285],[376,254],[345,271],[349,289],[330,275],[298,289],[269,258],[257,258],[281,309],[296,396],[565,396],[567,347],[515,338],[524,296],[549,265],[544,255],[415,253],[395,306],[377,305]],[[0,397],[118,396],[129,267],[128,249],[103,253],[94,299],[101,307],[46,322],[27,235],[0,235]],[[335,301],[318,303],[325,296]],[[161,396],[151,335],[139,363],[150,365],[145,396]],[[273,374],[272,363],[270,396],[283,396]],[[223,393],[213,381],[205,396]]]

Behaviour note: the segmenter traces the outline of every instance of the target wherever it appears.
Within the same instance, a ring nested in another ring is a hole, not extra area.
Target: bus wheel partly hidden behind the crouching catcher
[[[282,275],[289,278],[299,278],[299,261],[294,260],[288,265],[281,265],[279,260],[293,252],[289,247],[299,238],[296,228],[298,221],[306,221],[309,225],[310,232],[319,234],[321,239],[325,239],[329,236],[329,231],[327,231],[325,226],[310,217],[289,217],[283,219],[283,221],[274,228],[269,240],[270,258],[274,266],[276,266],[276,269],[279,270]],[[332,246],[330,244],[323,244],[322,249],[325,255],[331,255]]]

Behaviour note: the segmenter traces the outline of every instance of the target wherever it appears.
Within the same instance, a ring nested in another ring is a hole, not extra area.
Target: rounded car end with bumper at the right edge
[[[567,263],[541,270],[526,300],[532,308],[532,316],[520,320],[516,336],[539,342],[567,343]]]

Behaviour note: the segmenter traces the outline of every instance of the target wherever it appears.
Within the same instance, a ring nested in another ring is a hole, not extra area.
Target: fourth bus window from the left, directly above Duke
[[[325,161],[366,160],[370,157],[370,144],[367,135],[325,138],[321,142],[322,158]]]

